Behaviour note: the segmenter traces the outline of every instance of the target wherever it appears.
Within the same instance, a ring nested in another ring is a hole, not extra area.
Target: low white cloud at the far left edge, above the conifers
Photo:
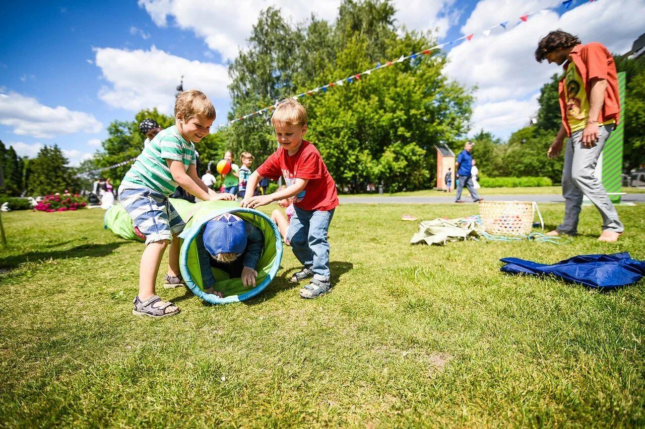
[[[0,93],[0,124],[11,127],[14,134],[36,138],[98,133],[103,128],[94,115],[63,106],[51,108],[16,92]]]

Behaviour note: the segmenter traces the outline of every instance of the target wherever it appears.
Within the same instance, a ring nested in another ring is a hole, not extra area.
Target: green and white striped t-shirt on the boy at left
[[[166,159],[181,161],[184,171],[196,163],[195,145],[186,142],[174,125],[160,131],[148,146],[143,148],[121,184],[144,186],[163,195],[171,195],[177,189],[177,182],[170,174]]]

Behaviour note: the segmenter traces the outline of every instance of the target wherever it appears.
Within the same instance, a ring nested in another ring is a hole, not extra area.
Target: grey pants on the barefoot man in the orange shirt
[[[559,233],[577,234],[583,195],[586,195],[600,212],[602,229],[622,233],[624,227],[620,223],[618,213],[611,204],[602,182],[595,175],[598,157],[613,128],[613,124],[599,126],[599,140],[592,148],[582,146],[582,130],[573,133],[571,138],[566,141],[564,168],[562,169],[564,220],[556,228]]]

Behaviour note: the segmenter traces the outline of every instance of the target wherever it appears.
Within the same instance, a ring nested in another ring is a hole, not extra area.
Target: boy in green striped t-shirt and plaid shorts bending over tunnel
[[[132,314],[163,318],[179,312],[155,294],[155,280],[164,251],[170,243],[166,287],[183,286],[179,271],[179,240],[184,221],[168,201],[177,186],[201,200],[233,200],[217,194],[197,176],[195,145],[208,134],[215,108],[200,91],[184,91],[175,102],[175,125],[160,131],[137,157],[119,187],[119,200],[146,236],[139,269],[139,294]]]

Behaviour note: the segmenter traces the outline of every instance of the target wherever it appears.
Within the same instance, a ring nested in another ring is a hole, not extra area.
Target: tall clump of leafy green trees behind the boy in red
[[[429,33],[397,28],[394,12],[390,1],[346,0],[334,24],[312,17],[292,27],[279,10],[268,9],[253,27],[248,52],[230,67],[230,117],[435,42]],[[284,51],[283,43],[289,45]],[[375,182],[391,191],[432,185],[433,144],[464,135],[471,115],[470,93],[442,75],[444,62],[442,55],[420,55],[300,99],[308,108],[308,138],[341,189]],[[225,134],[229,148],[248,150],[259,162],[268,157],[275,150],[268,114],[235,122]]]

